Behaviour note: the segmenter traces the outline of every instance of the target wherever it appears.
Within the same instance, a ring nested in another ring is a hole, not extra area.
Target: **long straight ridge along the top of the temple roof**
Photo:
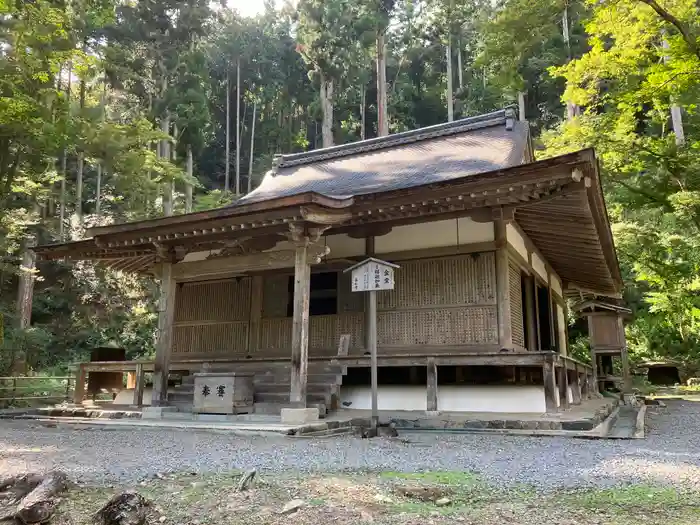
[[[435,124],[425,128],[418,128],[410,131],[402,131],[385,137],[375,137],[349,144],[341,144],[339,146],[330,146],[302,153],[291,153],[288,155],[276,155],[273,160],[272,172],[276,168],[288,166],[298,166],[301,164],[310,164],[321,160],[335,159],[356,155],[358,153],[366,153],[385,148],[392,148],[422,140],[454,135],[465,131],[473,131],[497,125],[508,125],[509,119],[515,120],[515,113],[512,108],[501,109],[483,115],[474,117],[466,117],[452,122],[443,124]]]

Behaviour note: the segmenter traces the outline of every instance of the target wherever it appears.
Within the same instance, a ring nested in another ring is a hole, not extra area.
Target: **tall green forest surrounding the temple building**
[[[27,272],[33,244],[225,205],[275,154],[519,101],[538,158],[596,148],[633,358],[695,359],[699,100],[695,0],[298,0],[256,17],[0,0],[0,375],[17,352],[34,370],[112,341],[153,352],[154,282],[85,262]]]

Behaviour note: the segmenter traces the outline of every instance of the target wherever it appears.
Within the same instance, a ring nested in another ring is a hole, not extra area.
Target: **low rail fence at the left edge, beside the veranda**
[[[0,377],[0,407],[69,400],[74,385],[74,376]]]

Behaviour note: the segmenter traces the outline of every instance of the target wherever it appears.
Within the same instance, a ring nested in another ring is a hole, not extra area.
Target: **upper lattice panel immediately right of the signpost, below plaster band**
[[[493,252],[402,263],[396,287],[378,294],[380,310],[496,303]]]

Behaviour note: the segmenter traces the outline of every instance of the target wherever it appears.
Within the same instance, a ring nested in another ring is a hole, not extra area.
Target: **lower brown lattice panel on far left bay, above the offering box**
[[[245,355],[247,322],[176,325],[173,327],[173,353],[196,356]]]

